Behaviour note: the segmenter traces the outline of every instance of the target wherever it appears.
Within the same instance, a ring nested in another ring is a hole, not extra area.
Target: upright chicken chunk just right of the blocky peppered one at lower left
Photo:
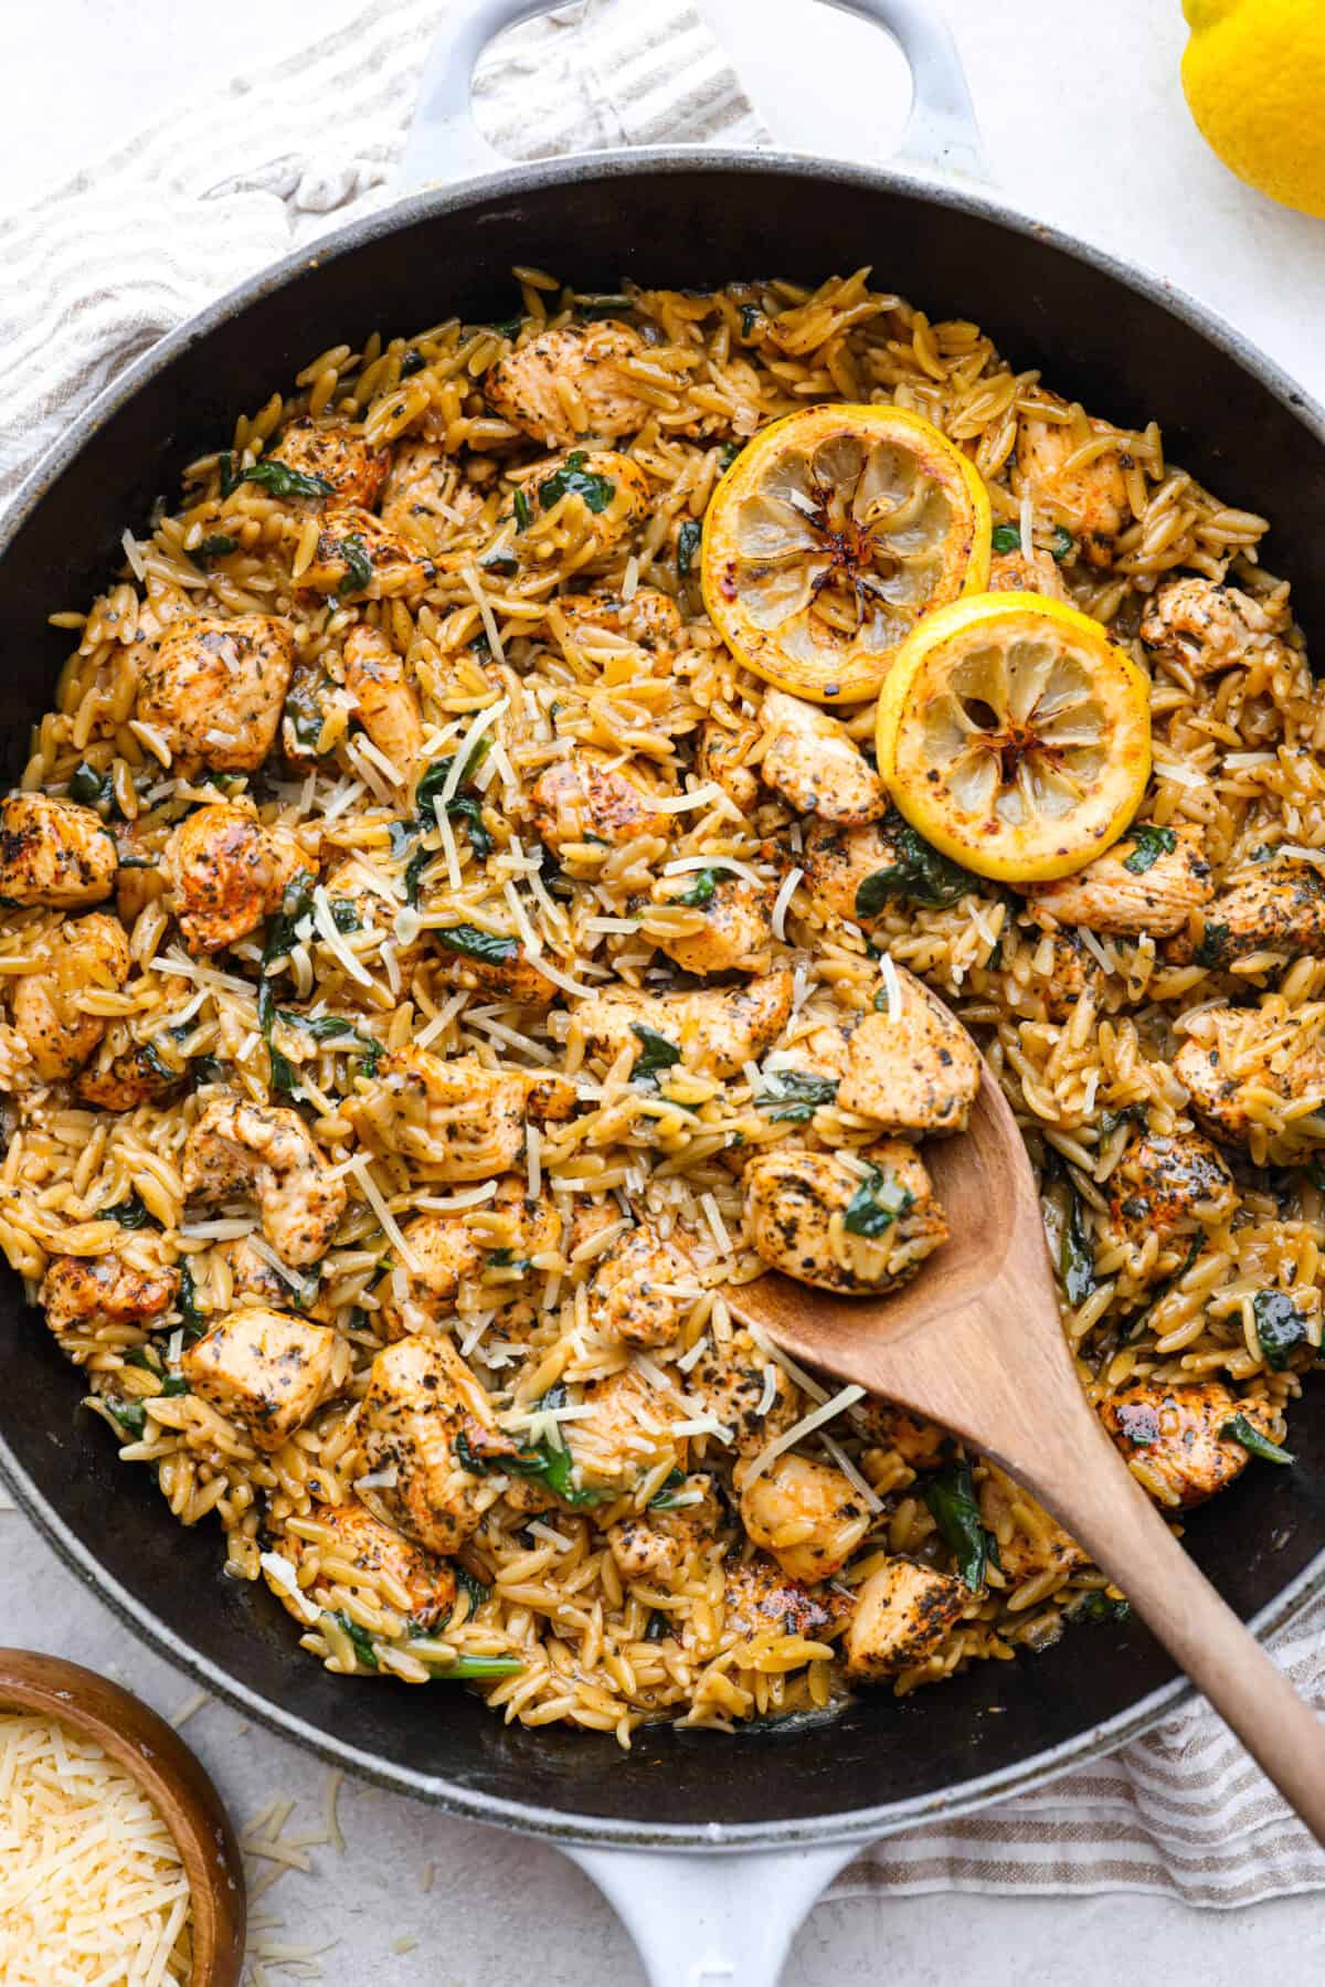
[[[451,1339],[441,1337],[397,1339],[377,1353],[360,1433],[369,1474],[395,1470],[395,1482],[375,1492],[385,1516],[441,1554],[457,1552],[479,1528],[499,1496],[483,1472],[516,1449],[499,1435],[493,1405]]]

